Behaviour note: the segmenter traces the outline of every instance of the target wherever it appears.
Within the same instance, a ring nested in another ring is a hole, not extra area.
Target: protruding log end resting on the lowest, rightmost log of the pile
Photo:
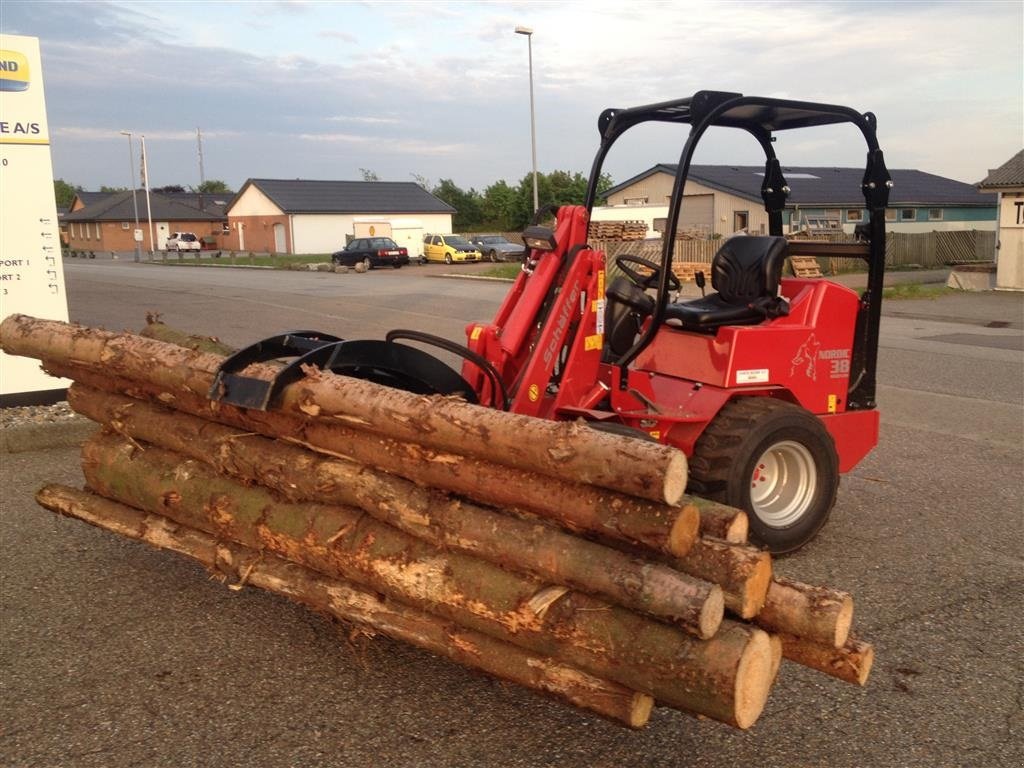
[[[775,577],[755,621],[770,632],[839,648],[846,644],[853,622],[853,598],[828,587]]]

